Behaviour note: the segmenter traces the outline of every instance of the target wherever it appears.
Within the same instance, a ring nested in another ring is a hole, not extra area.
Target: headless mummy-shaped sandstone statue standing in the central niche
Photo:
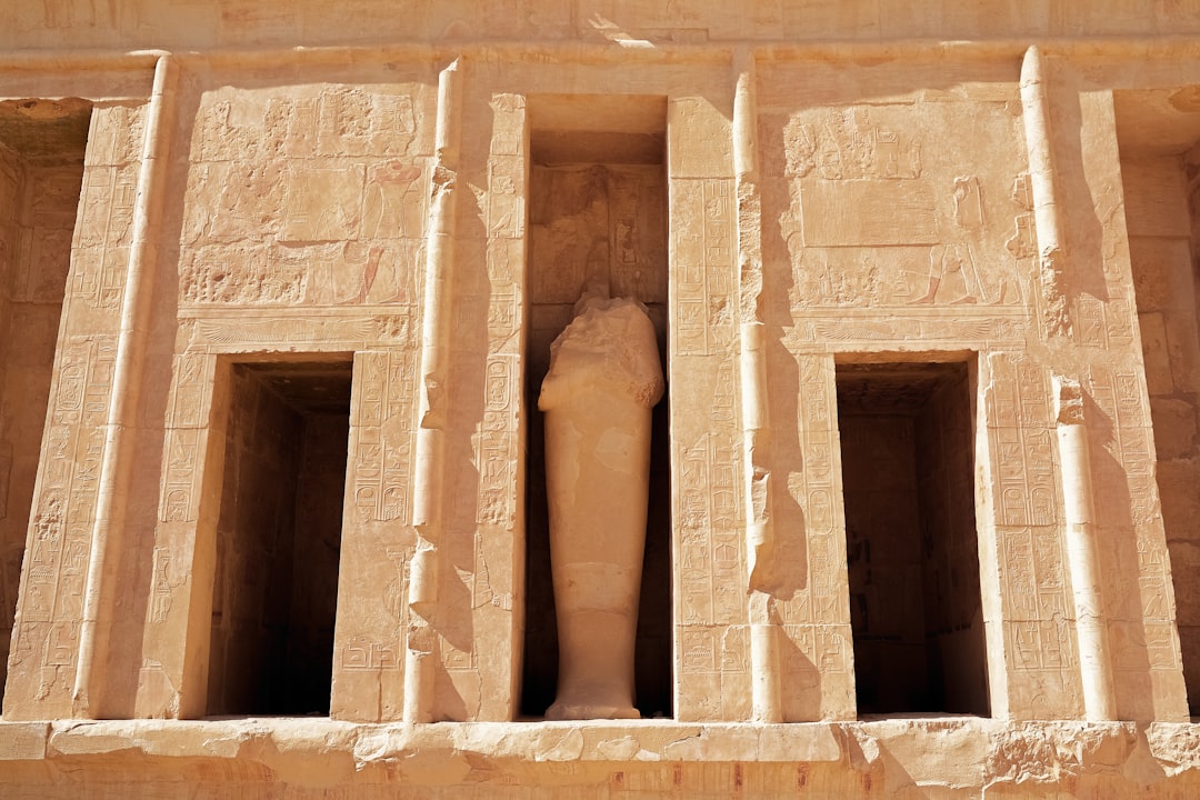
[[[558,696],[547,720],[638,718],[634,644],[649,499],[650,409],[664,391],[654,324],[589,284],[550,347],[546,417]]]

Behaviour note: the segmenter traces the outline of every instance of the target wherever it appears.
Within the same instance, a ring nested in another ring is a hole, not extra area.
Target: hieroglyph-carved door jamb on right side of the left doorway
[[[400,717],[408,566],[416,545],[409,497],[416,354],[360,351],[350,396],[331,714]]]

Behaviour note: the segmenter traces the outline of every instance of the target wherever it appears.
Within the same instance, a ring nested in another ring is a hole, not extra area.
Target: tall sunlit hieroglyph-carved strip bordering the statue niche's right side
[[[671,397],[686,398],[690,409],[672,415],[676,715],[739,720],[749,712],[750,664],[734,182],[672,178],[670,196]]]

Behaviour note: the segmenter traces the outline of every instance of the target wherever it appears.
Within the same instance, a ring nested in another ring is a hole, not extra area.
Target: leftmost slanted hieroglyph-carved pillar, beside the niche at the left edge
[[[142,108],[92,110],[42,457],[8,660],[5,718],[73,716],[84,590],[112,403]],[[114,590],[109,585],[107,590]],[[106,633],[107,634],[107,633]],[[103,670],[104,664],[97,664]]]

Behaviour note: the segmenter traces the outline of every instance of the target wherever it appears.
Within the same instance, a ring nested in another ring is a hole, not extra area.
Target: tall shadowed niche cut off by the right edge
[[[1154,481],[1163,509],[1163,528],[1170,553],[1170,575],[1175,589],[1175,621],[1180,632],[1183,679],[1188,708],[1200,716],[1200,302],[1196,294],[1196,257],[1200,253],[1200,114],[1188,106],[1195,86],[1154,91],[1112,94],[1117,144],[1121,150],[1121,180],[1126,198],[1126,227],[1129,234],[1129,261],[1138,303],[1146,389],[1154,428]],[[1128,422],[1124,422],[1128,425]],[[1093,445],[1094,449],[1094,445]],[[1094,455],[1094,450],[1093,450]],[[1108,464],[1114,477],[1108,486],[1120,486],[1123,464]],[[1130,488],[1133,485],[1130,482]],[[1121,498],[1109,492],[1097,498],[1098,512],[1106,499]],[[1116,524],[1114,515],[1106,515]],[[1127,542],[1120,559],[1124,569],[1141,570],[1141,579],[1164,570],[1162,557]],[[1154,625],[1164,630],[1165,604],[1159,596],[1126,593],[1127,619],[1154,613]],[[1142,603],[1147,603],[1142,606]],[[1146,621],[1150,621],[1148,619]],[[1126,622],[1110,622],[1114,628]],[[1150,644],[1154,638],[1162,652],[1169,636],[1136,636]],[[1110,633],[1111,637],[1111,633]],[[1140,711],[1153,716],[1150,692]],[[1128,703],[1128,702],[1127,702]]]

